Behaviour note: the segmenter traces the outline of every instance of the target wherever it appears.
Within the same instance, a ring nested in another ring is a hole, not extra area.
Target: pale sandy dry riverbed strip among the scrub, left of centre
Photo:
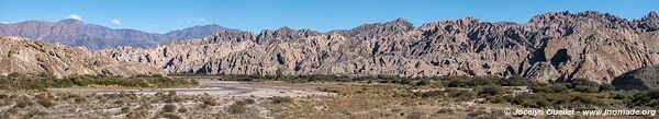
[[[328,96],[333,93],[320,92],[311,88],[279,87],[255,84],[253,82],[198,80],[199,86],[186,88],[153,88],[153,90],[108,90],[108,88],[51,88],[52,92],[71,92],[82,94],[115,94],[135,93],[153,95],[158,92],[175,91],[179,95],[214,95],[214,96]]]

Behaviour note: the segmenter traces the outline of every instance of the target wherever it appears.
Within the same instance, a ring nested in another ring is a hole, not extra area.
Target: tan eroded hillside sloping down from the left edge
[[[120,62],[85,48],[70,48],[60,44],[43,44],[29,39],[0,36],[0,74],[135,75],[160,74],[160,70],[139,63]]]

